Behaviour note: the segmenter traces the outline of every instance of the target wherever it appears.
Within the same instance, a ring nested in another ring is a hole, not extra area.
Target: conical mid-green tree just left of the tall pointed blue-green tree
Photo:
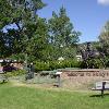
[[[27,45],[29,56],[35,56],[37,60],[46,61],[48,59],[48,24],[45,19],[37,19],[37,28]]]

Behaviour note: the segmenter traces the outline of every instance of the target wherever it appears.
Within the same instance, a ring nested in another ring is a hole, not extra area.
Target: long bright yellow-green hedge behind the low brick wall
[[[65,68],[80,68],[80,62],[76,60],[62,60],[62,61],[49,61],[49,62],[35,62],[35,71],[52,71],[57,69]]]

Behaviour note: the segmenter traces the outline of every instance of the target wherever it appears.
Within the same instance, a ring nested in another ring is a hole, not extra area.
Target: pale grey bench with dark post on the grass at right
[[[109,90],[109,81],[100,81],[95,83],[95,87],[92,88],[93,90],[100,90],[101,97],[104,97],[104,92]]]

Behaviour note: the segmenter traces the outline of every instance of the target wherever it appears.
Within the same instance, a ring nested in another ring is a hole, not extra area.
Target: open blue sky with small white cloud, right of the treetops
[[[43,0],[48,5],[38,11],[39,16],[50,19],[52,11],[63,5],[76,31],[82,32],[80,43],[98,39],[101,27],[109,20],[109,0]]]

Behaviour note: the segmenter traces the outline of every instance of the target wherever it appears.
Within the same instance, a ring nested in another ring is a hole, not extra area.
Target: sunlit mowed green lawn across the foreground
[[[109,96],[0,84],[0,109],[109,109]]]

